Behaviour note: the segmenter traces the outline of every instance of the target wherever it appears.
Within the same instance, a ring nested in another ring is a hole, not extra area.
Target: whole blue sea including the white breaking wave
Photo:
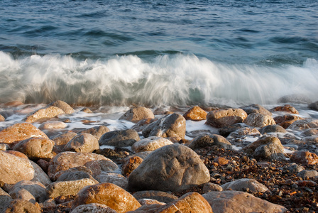
[[[318,1],[0,1],[0,101],[318,99]]]

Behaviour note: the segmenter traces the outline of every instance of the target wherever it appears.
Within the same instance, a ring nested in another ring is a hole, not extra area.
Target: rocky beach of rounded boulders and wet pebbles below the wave
[[[1,104],[0,212],[317,212],[317,111]]]

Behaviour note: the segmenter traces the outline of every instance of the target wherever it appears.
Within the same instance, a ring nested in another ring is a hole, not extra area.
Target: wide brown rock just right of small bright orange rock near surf
[[[210,126],[222,128],[231,124],[243,123],[247,114],[243,109],[220,109],[209,111],[207,114],[207,122]]]

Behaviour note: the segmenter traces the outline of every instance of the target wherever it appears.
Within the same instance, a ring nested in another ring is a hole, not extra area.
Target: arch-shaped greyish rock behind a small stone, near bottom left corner
[[[20,190],[28,191],[34,197],[36,202],[45,202],[46,200],[45,185],[40,182],[21,180],[11,187],[10,195],[13,195],[13,193],[18,194]],[[18,197],[13,196],[13,198]]]

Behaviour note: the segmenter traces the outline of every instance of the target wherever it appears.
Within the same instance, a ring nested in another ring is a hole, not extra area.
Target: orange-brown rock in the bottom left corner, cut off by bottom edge
[[[12,200],[8,207],[3,211],[3,213],[21,213],[21,212],[32,212],[40,213],[40,209],[35,206],[35,204],[28,202],[26,200],[15,199]],[[2,213],[2,212],[1,212]]]

